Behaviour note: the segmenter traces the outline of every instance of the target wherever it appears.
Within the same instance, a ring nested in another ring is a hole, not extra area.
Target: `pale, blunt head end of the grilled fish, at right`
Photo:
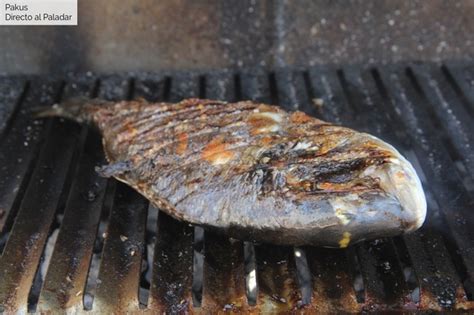
[[[296,206],[285,221],[288,226],[307,229],[308,243],[332,242],[332,247],[421,227],[423,187],[394,147],[354,133],[336,151],[289,165],[282,187]]]

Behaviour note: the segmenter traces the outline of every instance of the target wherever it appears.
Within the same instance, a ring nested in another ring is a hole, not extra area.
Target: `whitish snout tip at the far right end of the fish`
[[[368,135],[379,147],[390,151],[387,163],[370,166],[362,175],[379,179],[380,187],[400,203],[400,216],[406,227],[405,232],[412,232],[423,225],[426,218],[426,197],[413,165],[393,146]]]

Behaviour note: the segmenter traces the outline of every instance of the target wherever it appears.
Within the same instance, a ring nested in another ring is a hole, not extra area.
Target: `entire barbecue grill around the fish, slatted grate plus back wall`
[[[77,27],[0,26],[0,314],[474,312],[472,2],[78,2]],[[346,249],[179,222],[97,175],[96,130],[33,119],[71,97],[255,100],[369,132],[416,168],[426,222]]]

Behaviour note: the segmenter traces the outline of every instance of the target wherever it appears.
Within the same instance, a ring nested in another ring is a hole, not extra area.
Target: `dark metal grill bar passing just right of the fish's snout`
[[[410,138],[413,139],[413,150],[417,153],[424,172],[430,178],[429,187],[433,189],[441,212],[444,215],[444,222],[450,227],[458,250],[462,251],[464,266],[469,272],[469,277],[473,279],[474,257],[472,250],[473,236],[469,227],[472,226],[473,216],[470,214],[469,204],[472,198],[468,196],[461,179],[457,176],[457,170],[452,164],[452,160],[447,156],[447,150],[441,147],[441,143],[435,135],[429,133],[434,131],[434,126],[426,119],[424,112],[413,105],[413,102],[421,102],[410,85],[402,75],[395,73],[382,76],[390,84],[386,87],[397,89],[391,94],[395,101],[395,106],[399,107],[399,112],[403,115],[405,127],[408,129]],[[388,76],[388,77],[387,77]],[[404,85],[400,85],[401,81]],[[387,90],[387,91],[390,91]],[[392,92],[390,92],[392,93]],[[407,93],[408,97],[407,97]],[[401,97],[401,98],[400,98]],[[412,101],[413,100],[413,101]],[[402,107],[403,106],[403,107]],[[428,158],[426,158],[428,157]]]

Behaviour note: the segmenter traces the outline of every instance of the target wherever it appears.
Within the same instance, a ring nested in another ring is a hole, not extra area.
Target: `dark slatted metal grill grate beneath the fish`
[[[100,178],[100,137],[33,121],[73,96],[253,99],[373,133],[415,165],[424,227],[346,250],[254,245],[158,214]],[[0,308],[14,311],[474,309],[474,67],[0,77]],[[52,254],[51,254],[52,252]]]

